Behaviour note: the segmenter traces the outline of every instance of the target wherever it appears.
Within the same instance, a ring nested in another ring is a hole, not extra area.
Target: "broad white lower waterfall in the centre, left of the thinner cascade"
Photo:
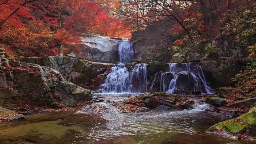
[[[103,93],[147,92],[146,64],[136,64],[129,72],[125,64],[114,64],[100,87]]]

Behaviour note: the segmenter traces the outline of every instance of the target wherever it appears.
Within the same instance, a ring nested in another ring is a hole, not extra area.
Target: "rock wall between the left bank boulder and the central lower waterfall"
[[[93,84],[92,79],[97,78],[102,69],[109,66],[109,64],[90,62],[68,56],[20,57],[19,61],[53,68],[60,72],[65,80],[76,84],[87,84],[88,86]]]

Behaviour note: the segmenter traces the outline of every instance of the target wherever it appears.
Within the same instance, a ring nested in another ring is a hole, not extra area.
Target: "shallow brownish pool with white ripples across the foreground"
[[[207,104],[140,113],[121,113],[111,106],[130,96],[99,95],[104,102],[75,113],[34,114],[22,122],[0,123],[0,144],[253,144],[206,134],[208,127],[229,119],[205,112]]]

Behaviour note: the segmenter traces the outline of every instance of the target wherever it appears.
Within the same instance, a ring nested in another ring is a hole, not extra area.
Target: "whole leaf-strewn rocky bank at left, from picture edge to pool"
[[[88,100],[92,100],[90,90],[65,80],[53,68],[18,61],[0,67],[0,106],[18,112],[8,111],[1,115],[2,120],[44,109],[74,107]]]

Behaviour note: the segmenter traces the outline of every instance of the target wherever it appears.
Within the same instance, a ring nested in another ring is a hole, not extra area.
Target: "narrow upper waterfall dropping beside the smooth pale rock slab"
[[[120,40],[118,41],[118,62],[126,63],[134,59],[134,50],[132,48],[132,41]]]

